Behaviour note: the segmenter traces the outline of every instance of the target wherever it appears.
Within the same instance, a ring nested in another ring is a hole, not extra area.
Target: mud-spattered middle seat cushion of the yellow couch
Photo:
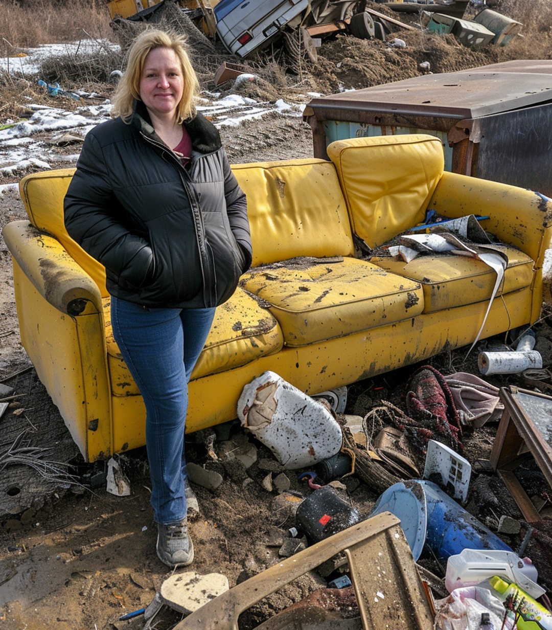
[[[356,258],[296,259],[254,268],[241,284],[269,302],[288,346],[392,324],[424,309],[419,282]]]

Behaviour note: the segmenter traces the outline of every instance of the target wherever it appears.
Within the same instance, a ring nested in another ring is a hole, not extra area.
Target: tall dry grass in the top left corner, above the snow
[[[81,38],[113,38],[104,0],[2,0],[0,51]]]

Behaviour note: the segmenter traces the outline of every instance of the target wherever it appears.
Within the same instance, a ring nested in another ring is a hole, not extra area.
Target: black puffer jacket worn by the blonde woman
[[[251,265],[245,195],[217,129],[200,113],[184,123],[188,168],[137,104],[87,135],[65,196],[70,236],[106,268],[111,295],[150,307],[225,302]]]

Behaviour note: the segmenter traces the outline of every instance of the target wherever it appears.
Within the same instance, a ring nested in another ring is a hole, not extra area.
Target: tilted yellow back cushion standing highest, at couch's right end
[[[441,140],[425,134],[336,140],[327,153],[337,169],[352,231],[370,247],[424,221],[441,179]]]

